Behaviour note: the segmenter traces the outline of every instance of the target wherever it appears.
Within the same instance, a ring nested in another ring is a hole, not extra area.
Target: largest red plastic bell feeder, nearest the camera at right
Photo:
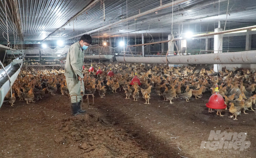
[[[223,97],[218,93],[218,87],[216,87],[215,91],[217,92],[212,94],[209,102],[206,103],[206,107],[211,109],[226,109],[227,105],[225,104]]]

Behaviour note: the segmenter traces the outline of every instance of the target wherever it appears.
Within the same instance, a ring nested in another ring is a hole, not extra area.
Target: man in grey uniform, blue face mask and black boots
[[[77,103],[76,96],[71,97],[71,109],[73,116],[85,112],[80,109],[82,100],[82,96],[80,95],[80,82],[82,82],[82,79],[84,78],[84,75],[82,73],[82,66],[84,64],[83,50],[86,50],[88,46],[90,46],[91,42],[92,39],[90,35],[82,35],[77,43],[74,43],[72,44],[72,46],[70,46],[69,52],[67,53],[64,73],[64,75],[66,76],[67,88],[69,89],[70,95],[78,95]]]

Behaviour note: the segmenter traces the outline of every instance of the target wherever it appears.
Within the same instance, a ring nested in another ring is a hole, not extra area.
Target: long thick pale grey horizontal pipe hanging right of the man
[[[256,64],[256,51],[212,53],[168,57],[117,56],[117,62],[146,64]]]

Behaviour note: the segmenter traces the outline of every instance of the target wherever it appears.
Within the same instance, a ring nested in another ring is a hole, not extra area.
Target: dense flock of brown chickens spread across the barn
[[[112,68],[114,76],[108,76],[108,71]],[[217,75],[213,70],[195,70],[195,67],[168,67],[167,65],[140,65],[126,64],[120,67],[119,64],[107,65],[102,68],[103,73],[96,75],[95,72],[88,72],[88,67],[84,69],[85,94],[94,94],[98,91],[99,96],[105,96],[107,88],[113,93],[123,90],[126,94],[125,99],[133,96],[134,101],[138,101],[140,93],[145,98],[145,104],[150,104],[151,92],[162,96],[165,101],[171,104],[175,98],[181,98],[189,102],[194,96],[195,99],[201,98],[203,93],[212,91],[218,85],[219,94],[224,97],[227,105],[230,105],[229,112],[236,117],[247,114],[245,111],[254,111],[252,106],[256,101],[256,73],[242,68],[234,68],[229,71],[226,67]],[[134,74],[134,71],[136,73]],[[128,73],[129,72],[129,73]],[[130,73],[131,72],[131,73]],[[141,85],[131,80],[137,75]],[[60,91],[62,95],[69,95],[64,70],[52,71],[21,71],[19,77],[12,86],[12,94],[9,92],[6,99],[9,99],[11,106],[15,102],[15,96],[28,102],[39,100],[46,93],[46,90],[55,95]],[[17,94],[17,95],[16,95]],[[227,108],[226,108],[227,109]],[[223,116],[221,112],[226,109],[217,109],[217,115]],[[212,109],[209,109],[212,112]]]

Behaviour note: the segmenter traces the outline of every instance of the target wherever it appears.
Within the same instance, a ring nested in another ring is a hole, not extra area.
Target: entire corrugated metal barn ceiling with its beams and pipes
[[[1,42],[8,37],[9,41],[76,40],[83,33],[93,37],[150,33],[157,38],[172,30],[200,34],[214,32],[218,21],[224,27],[226,20],[226,30],[256,25],[254,0],[2,0],[0,9]]]

